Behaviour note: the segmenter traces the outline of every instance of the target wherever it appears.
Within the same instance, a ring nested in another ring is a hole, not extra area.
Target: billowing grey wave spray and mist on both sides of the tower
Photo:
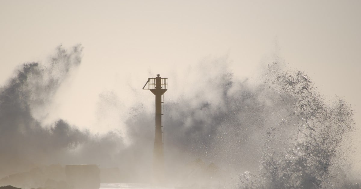
[[[79,65],[84,64],[82,50],[81,45],[70,49],[59,46],[45,63],[18,66],[14,76],[1,87],[1,177],[40,165],[97,164],[100,168],[118,168],[119,178],[126,181],[150,181],[155,133],[153,94],[143,91],[141,85],[122,87],[124,91],[132,91],[130,94],[148,93],[149,99],[134,95],[131,102],[126,102],[127,96],[112,90],[98,95],[95,115],[103,119],[99,126],[109,126],[103,132],[92,128],[96,124],[79,127],[66,119],[49,121],[59,90],[66,89],[64,83],[71,82]],[[326,159],[321,158],[327,168],[322,168],[325,174],[315,176],[315,183],[326,182],[329,178],[325,179],[325,175],[332,168],[341,169],[341,164],[350,166],[351,162],[347,161],[335,163],[352,155],[342,146],[348,134],[355,130],[347,103],[340,98],[335,98],[333,104],[326,102],[311,78],[287,68],[282,61],[269,62],[258,73],[260,77],[242,80],[234,76],[237,70],[229,68],[229,61],[227,56],[205,58],[188,67],[184,75],[161,73],[173,84],[169,90],[177,91],[170,98],[165,93],[164,104],[165,171],[170,182],[182,182],[177,180],[177,172],[188,162],[201,159],[227,172],[232,186],[244,181],[239,175],[245,171],[252,172],[255,180],[266,175],[270,182],[283,183],[277,179],[282,173],[268,175],[269,162],[290,171],[292,166],[279,162],[295,146],[301,145],[299,149],[303,151],[293,155],[304,157],[303,153],[310,147],[302,145],[312,143],[309,138],[317,141],[316,144],[322,143],[321,139],[330,140],[328,146],[311,145],[313,154],[321,154],[319,158],[332,152]],[[147,77],[155,75],[149,74],[144,79]],[[306,117],[313,122],[304,121]],[[277,161],[268,159],[267,154],[271,153],[278,154],[272,156]],[[317,155],[311,156],[310,159]],[[319,172],[315,167],[302,168]],[[349,174],[353,173],[345,173]],[[294,182],[296,187],[306,181],[299,182]],[[279,187],[263,184],[265,188]],[[250,187],[260,188],[260,185]]]

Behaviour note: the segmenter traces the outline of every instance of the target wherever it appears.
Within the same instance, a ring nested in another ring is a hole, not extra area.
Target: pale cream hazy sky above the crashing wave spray
[[[187,66],[221,56],[245,78],[279,56],[323,95],[352,104],[360,125],[360,7],[358,0],[0,0],[0,83],[21,63],[46,62],[58,45],[81,43],[82,64],[51,116],[84,126],[96,121],[102,91],[130,90],[124,81],[140,89],[160,73],[171,82],[171,70],[186,77]]]

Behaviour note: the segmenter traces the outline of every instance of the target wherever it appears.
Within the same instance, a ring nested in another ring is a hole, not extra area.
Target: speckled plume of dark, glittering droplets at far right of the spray
[[[240,188],[337,188],[348,163],[340,145],[355,129],[350,106],[338,97],[326,103],[303,72],[274,63],[266,75],[266,84],[293,104],[293,112],[269,126],[260,170],[242,174]]]

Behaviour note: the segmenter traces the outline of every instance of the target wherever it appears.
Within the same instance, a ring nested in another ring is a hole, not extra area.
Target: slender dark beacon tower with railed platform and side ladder
[[[164,181],[164,157],[163,157],[163,107],[164,93],[168,89],[168,78],[148,78],[143,89],[148,89],[156,95],[156,133],[154,137],[153,171],[154,181]]]

